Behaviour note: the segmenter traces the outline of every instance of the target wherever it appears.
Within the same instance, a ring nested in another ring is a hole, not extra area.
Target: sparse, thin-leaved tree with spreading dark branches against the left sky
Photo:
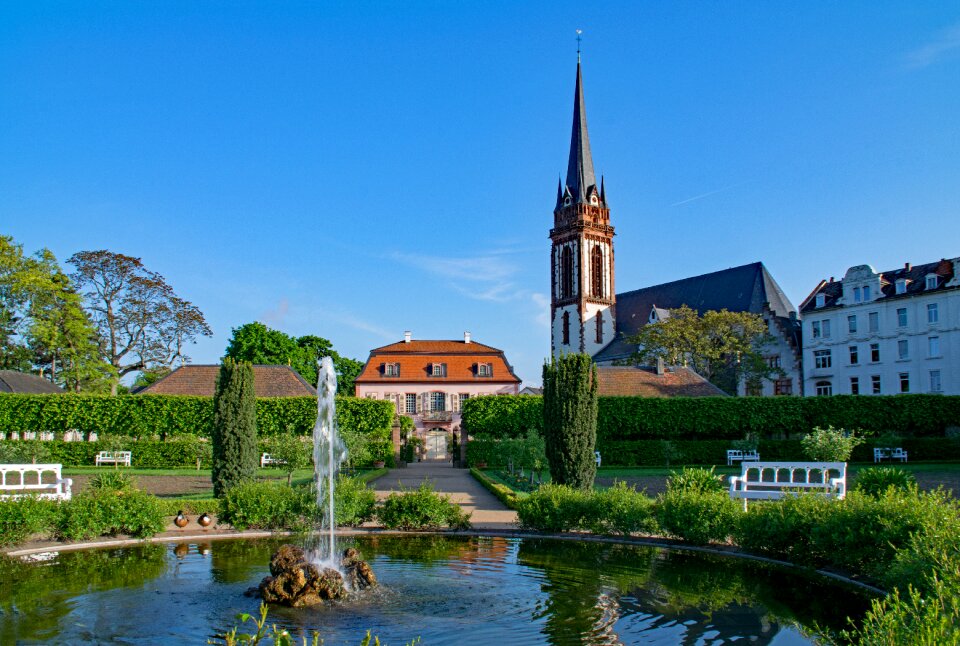
[[[203,313],[174,293],[140,258],[111,251],[81,251],[70,260],[97,331],[100,356],[120,378],[131,372],[189,360],[188,344],[212,332]]]

